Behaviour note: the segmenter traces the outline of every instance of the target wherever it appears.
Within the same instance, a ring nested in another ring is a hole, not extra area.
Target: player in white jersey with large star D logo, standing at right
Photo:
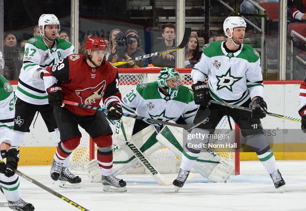
[[[259,160],[270,174],[276,188],[285,185],[276,165],[274,154],[263,135],[259,119],[266,116],[267,104],[263,100],[263,79],[260,68],[259,53],[252,47],[243,44],[245,21],[241,17],[228,17],[223,23],[223,30],[228,39],[203,46],[199,63],[192,69],[192,90],[196,104],[209,107],[211,110],[208,122],[191,131],[191,134],[213,134],[223,116],[231,116],[241,129],[247,144],[256,152]],[[208,77],[207,84],[204,82]],[[214,99],[253,109],[248,111],[227,108],[210,104]],[[173,184],[176,191],[183,187],[188,172],[200,153],[197,147],[207,140],[192,139],[186,144],[182,155],[181,170]],[[191,143],[191,144],[190,144]]]

